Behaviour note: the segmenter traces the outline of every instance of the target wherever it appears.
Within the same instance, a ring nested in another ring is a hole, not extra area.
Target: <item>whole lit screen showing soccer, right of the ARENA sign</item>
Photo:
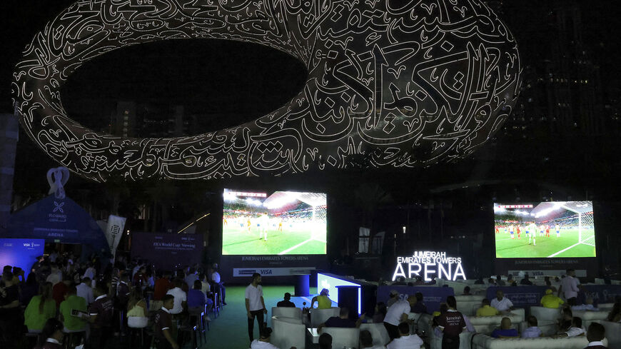
[[[496,258],[595,257],[591,201],[494,204]]]

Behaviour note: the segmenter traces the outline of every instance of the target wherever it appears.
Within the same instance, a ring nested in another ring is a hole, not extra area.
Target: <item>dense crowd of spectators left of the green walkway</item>
[[[217,265],[185,266],[173,272],[123,256],[104,265],[97,258],[82,262],[71,253],[61,256],[56,252],[33,262],[28,273],[3,266],[0,347],[64,348],[69,344],[73,348],[84,343],[89,349],[106,348],[113,338],[128,337],[127,320],[132,317],[153,325],[149,328],[153,328],[157,348],[176,349],[183,339],[178,325],[204,311],[211,321],[212,290],[226,304]],[[69,333],[73,343],[63,343]]]

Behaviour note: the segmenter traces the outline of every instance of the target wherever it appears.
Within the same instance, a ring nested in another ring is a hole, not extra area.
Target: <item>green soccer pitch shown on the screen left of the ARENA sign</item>
[[[260,238],[261,232],[252,227],[248,232],[239,226],[223,228],[223,255],[318,255],[325,254],[324,236],[313,235],[310,229],[283,231],[268,229],[268,238]]]

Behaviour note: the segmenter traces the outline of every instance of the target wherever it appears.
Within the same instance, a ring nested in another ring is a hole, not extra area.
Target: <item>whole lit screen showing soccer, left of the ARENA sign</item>
[[[224,189],[222,254],[325,254],[325,211],[325,193]]]

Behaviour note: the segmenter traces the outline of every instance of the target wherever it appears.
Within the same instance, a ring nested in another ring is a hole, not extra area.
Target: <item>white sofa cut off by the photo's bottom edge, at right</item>
[[[603,340],[607,345],[607,340]],[[589,344],[585,336],[572,338],[491,338],[477,334],[473,338],[472,349],[583,349]],[[610,347],[612,348],[612,347]]]

